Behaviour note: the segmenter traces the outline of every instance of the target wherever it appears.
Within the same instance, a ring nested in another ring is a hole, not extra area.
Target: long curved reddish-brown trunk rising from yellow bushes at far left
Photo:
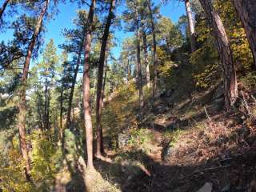
[[[19,113],[18,113],[18,131],[19,131],[19,142],[20,142],[20,147],[22,151],[22,158],[26,162],[26,168],[25,168],[25,174],[26,178],[30,180],[30,158],[29,158],[29,153],[28,149],[26,147],[26,80],[28,77],[28,72],[30,68],[30,59],[32,57],[32,53],[34,50],[34,44],[37,41],[38,34],[41,31],[42,28],[42,20],[44,18],[44,15],[46,14],[46,10],[48,8],[49,0],[46,0],[45,5],[42,8],[42,12],[39,15],[37,25],[35,26],[34,29],[34,34],[31,38],[31,42],[29,44],[27,53],[26,53],[26,59],[23,67],[23,73],[22,73],[22,85],[21,89],[19,91]]]

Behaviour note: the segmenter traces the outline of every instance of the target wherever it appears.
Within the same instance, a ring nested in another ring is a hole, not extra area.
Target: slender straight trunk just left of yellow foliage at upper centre
[[[156,41],[156,34],[155,34],[155,26],[154,26],[154,18],[153,12],[151,9],[151,0],[148,0],[148,8],[150,10],[150,23],[152,29],[152,36],[153,36],[153,68],[154,68],[154,80],[153,80],[153,98],[156,97],[157,94],[157,83],[158,83],[158,56],[157,56],[157,41]]]

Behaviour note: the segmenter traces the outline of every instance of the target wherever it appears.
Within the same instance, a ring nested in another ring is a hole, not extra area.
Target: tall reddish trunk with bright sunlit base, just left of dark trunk
[[[91,122],[90,114],[90,46],[91,46],[91,34],[92,25],[94,22],[94,10],[95,10],[96,0],[91,1],[90,10],[88,14],[88,19],[86,22],[86,37],[85,37],[85,61],[83,70],[83,110],[85,118],[85,128],[86,128],[86,148],[87,148],[87,167],[94,168],[93,158],[93,126]]]

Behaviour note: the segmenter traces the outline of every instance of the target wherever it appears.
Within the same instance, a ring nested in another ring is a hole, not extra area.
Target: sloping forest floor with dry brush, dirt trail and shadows
[[[254,87],[241,81],[236,108],[226,113],[218,82],[198,91],[187,81],[162,87],[154,104],[145,88],[142,110],[134,83],[106,100],[106,158],[95,158],[88,191],[191,192],[205,184],[200,191],[255,191]]]

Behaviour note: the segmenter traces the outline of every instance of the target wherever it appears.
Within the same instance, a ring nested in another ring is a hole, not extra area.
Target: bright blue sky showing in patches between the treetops
[[[2,1],[0,1],[2,5]],[[154,0],[155,4],[159,4],[160,0]],[[168,18],[171,18],[173,22],[177,22],[178,18],[185,14],[185,7],[183,5],[184,3],[178,2],[177,0],[170,0],[170,3],[167,5],[162,6],[160,13],[163,16],[166,16]],[[88,7],[86,7],[88,9]],[[46,33],[44,34],[45,42],[49,42],[50,38],[54,39],[54,42],[56,45],[61,44],[64,39],[62,37],[62,29],[64,28],[72,28],[74,27],[72,25],[72,20],[76,16],[76,10],[78,10],[78,6],[75,3],[66,3],[66,4],[60,4],[58,5],[59,13],[54,16],[54,19],[50,20],[46,24]],[[118,14],[122,14],[122,10],[124,10],[124,7],[120,7],[118,9]],[[17,16],[14,15],[13,18]],[[123,30],[115,30],[115,37],[118,39],[117,47],[114,47],[112,50],[112,53],[114,54],[115,58],[118,58],[118,55],[120,53],[121,47],[122,47],[122,40],[124,38],[127,38],[130,36],[129,33],[125,33]],[[12,31],[7,30],[6,33],[0,34],[0,41],[6,41],[7,39],[12,38]],[[58,48],[58,54],[61,53],[62,50]]]

